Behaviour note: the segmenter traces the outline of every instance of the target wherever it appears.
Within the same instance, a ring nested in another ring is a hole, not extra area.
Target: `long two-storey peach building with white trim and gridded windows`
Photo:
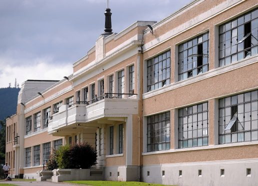
[[[19,143],[6,146],[15,175],[35,176],[51,147],[87,141],[106,180],[255,185],[257,7],[194,0],[159,22],[106,29],[38,94],[25,81],[6,120],[7,138],[18,127]]]

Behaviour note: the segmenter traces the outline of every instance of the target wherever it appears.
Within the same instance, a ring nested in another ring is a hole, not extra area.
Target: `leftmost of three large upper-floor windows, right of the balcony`
[[[147,60],[147,91],[170,83],[170,50]]]

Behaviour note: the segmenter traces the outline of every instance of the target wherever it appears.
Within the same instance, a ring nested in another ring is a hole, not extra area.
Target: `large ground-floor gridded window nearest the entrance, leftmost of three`
[[[170,148],[170,112],[147,117],[147,151]]]

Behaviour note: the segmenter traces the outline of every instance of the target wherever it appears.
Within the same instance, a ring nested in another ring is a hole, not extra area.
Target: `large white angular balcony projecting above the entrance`
[[[74,123],[92,123],[103,117],[126,117],[138,113],[136,94],[105,93],[89,101],[77,101],[72,105],[61,105],[48,124],[48,133],[71,126]]]

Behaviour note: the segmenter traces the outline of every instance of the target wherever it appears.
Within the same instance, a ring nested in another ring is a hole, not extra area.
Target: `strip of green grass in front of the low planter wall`
[[[86,184],[92,186],[99,185],[112,185],[112,186],[126,186],[126,185],[135,185],[135,186],[145,186],[145,185],[153,185],[153,186],[162,186],[163,184],[153,184],[153,183],[145,183],[145,182],[137,182],[137,181],[64,181],[67,183],[75,183],[75,184]]]

